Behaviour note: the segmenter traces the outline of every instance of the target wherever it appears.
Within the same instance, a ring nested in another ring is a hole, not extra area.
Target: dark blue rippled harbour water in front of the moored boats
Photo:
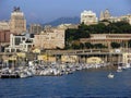
[[[114,78],[108,78],[109,73]],[[62,76],[0,78],[0,98],[131,97],[131,70],[97,69]]]

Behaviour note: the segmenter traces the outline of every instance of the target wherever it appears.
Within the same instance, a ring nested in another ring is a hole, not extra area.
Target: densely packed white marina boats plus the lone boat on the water
[[[110,63],[100,63],[100,64],[87,64],[87,63],[35,63],[29,61],[25,66],[16,68],[4,68],[0,71],[1,78],[24,78],[32,76],[61,76],[67,74],[72,74],[76,71],[90,70],[90,69],[103,69],[103,68],[116,68]],[[116,68],[116,72],[122,72],[122,70],[129,70],[130,64]],[[109,78],[112,78],[114,75],[109,74]]]

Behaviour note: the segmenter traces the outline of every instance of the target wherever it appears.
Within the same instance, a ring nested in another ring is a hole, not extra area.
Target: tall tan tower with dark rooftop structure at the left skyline
[[[13,12],[11,13],[10,30],[17,35],[26,32],[26,20],[20,8],[14,7]]]

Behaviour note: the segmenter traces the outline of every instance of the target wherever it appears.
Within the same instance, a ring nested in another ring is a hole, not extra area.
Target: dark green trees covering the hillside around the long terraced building
[[[80,38],[90,38],[91,34],[130,34],[131,25],[127,22],[110,23],[108,21],[99,22],[96,25],[80,24],[79,28],[68,28],[66,30],[66,49],[88,49],[107,48],[102,44],[92,45],[81,44]],[[112,48],[119,48],[120,44],[112,42]],[[131,46],[131,42],[130,42]]]

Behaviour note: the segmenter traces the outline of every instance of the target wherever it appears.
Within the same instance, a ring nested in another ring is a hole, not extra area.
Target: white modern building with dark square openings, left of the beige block
[[[10,35],[10,46],[5,48],[5,52],[20,52],[29,51],[33,45],[34,38],[29,35]]]

